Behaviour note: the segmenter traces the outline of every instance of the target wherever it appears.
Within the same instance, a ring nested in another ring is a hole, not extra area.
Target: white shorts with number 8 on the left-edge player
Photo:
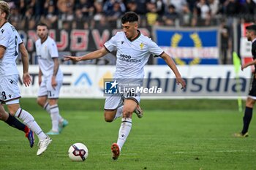
[[[18,75],[0,77],[0,103],[18,103],[20,89],[18,88]]]

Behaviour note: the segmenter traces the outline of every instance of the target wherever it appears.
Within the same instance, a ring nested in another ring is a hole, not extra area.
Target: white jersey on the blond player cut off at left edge
[[[0,46],[5,48],[4,57],[0,59],[0,77],[18,74],[16,59],[21,43],[23,42],[14,26],[4,23],[0,28]]]

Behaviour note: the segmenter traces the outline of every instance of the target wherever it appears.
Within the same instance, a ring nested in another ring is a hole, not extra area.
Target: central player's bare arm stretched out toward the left
[[[99,50],[96,50],[94,52],[91,52],[91,53],[88,53],[86,55],[79,56],[79,57],[64,55],[64,61],[72,60],[72,61],[78,62],[78,61],[92,60],[92,59],[96,59],[96,58],[101,58],[108,53],[109,53],[108,50],[105,47],[102,47]]]

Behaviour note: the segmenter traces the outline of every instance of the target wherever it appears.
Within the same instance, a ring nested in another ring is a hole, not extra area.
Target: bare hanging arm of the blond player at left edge
[[[19,51],[21,53],[21,61],[23,64],[23,83],[27,87],[31,83],[31,77],[29,75],[29,54],[23,43],[20,43]]]

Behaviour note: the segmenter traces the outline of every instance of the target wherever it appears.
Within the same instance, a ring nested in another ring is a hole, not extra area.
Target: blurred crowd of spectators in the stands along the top
[[[256,0],[6,0],[10,23],[18,30],[35,30],[37,23],[49,28],[121,28],[121,15],[140,15],[140,27],[220,26],[221,63],[228,63],[233,46],[233,20],[256,21]]]

